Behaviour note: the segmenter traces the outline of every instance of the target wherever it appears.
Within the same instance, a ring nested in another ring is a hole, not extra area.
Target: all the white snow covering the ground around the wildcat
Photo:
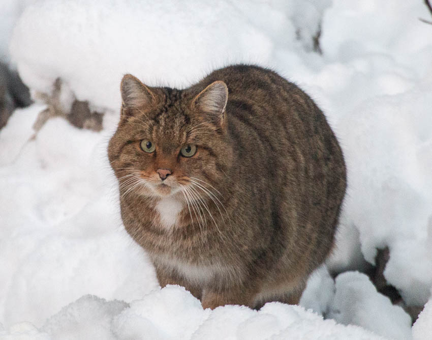
[[[105,116],[101,132],[56,118],[35,135],[44,109],[36,103],[0,130],[0,339],[432,338],[432,300],[411,330],[408,314],[355,271],[388,247],[384,276],[405,304],[430,299],[432,25],[418,20],[430,19],[422,1],[2,6],[0,55],[30,90],[49,94],[60,77],[63,105],[88,100]],[[321,55],[313,51],[319,30]],[[299,84],[345,152],[337,249],[311,277],[302,307],[203,310],[184,289],[158,287],[121,224],[106,157],[121,76],[184,87],[235,62],[269,66]]]

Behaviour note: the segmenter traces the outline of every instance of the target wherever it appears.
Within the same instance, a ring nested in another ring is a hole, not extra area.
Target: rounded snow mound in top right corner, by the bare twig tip
[[[333,0],[333,6],[324,14],[321,43],[332,59],[346,62],[372,52],[391,56],[401,66],[424,74],[432,52],[430,26],[418,19],[429,17],[421,2]],[[401,25],[401,20],[409,24]]]

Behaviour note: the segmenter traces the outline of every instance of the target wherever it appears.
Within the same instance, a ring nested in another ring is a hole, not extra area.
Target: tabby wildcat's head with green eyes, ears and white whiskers
[[[186,195],[195,201],[224,181],[233,153],[228,89],[223,81],[205,85],[151,88],[124,76],[120,122],[108,147],[122,194]]]

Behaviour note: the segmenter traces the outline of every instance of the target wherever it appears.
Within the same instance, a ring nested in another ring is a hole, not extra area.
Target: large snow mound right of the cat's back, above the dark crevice
[[[410,305],[423,305],[432,286],[431,84],[362,103],[339,125],[345,149],[356,150],[346,153],[345,214],[368,262],[390,248],[384,275]]]

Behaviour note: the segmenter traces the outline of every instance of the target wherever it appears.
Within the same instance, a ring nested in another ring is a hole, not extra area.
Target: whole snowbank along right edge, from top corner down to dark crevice
[[[315,77],[340,77],[329,95],[349,170],[343,227],[359,231],[369,263],[389,247],[384,275],[409,305],[432,286],[432,27],[418,20],[428,15],[420,3],[334,1],[321,40],[334,62]]]

